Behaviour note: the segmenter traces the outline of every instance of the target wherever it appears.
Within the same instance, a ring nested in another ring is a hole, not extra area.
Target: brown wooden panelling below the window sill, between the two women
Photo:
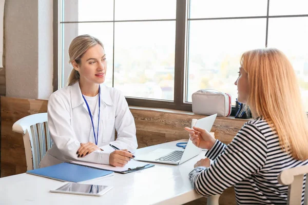
[[[188,138],[184,127],[190,127],[191,119],[204,117],[204,115],[167,113],[155,110],[130,109],[130,111],[136,123],[139,148]],[[211,131],[215,132],[217,139],[229,144],[246,121],[217,117]]]

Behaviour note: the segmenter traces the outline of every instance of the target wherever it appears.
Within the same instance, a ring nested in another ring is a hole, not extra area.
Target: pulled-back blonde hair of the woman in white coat
[[[84,55],[84,53],[92,46],[95,46],[98,44],[104,48],[102,42],[93,36],[80,35],[80,36],[75,37],[72,40],[68,48],[69,63],[72,64],[72,61],[75,60],[76,64],[80,65],[81,58]],[[71,86],[75,84],[76,82],[78,82],[79,79],[80,79],[79,72],[73,68],[73,70],[71,71],[68,77],[67,85]]]

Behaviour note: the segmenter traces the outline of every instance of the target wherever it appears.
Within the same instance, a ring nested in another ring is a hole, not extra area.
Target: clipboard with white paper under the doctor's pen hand
[[[138,170],[142,170],[142,169],[146,169],[146,168],[154,166],[154,165],[151,165],[150,163],[140,162],[136,160],[130,160],[124,167],[113,167],[111,165],[102,165],[99,163],[91,163],[91,162],[85,162],[85,161],[71,161],[70,163],[73,163],[76,165],[84,165],[86,167],[98,168],[102,170],[113,171],[113,172],[117,172],[121,174],[135,172]]]

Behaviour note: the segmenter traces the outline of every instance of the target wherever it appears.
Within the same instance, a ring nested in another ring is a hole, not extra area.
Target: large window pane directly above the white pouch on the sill
[[[266,18],[191,20],[186,100],[200,89],[215,89],[231,94],[235,105],[240,56],[265,47],[265,29]]]

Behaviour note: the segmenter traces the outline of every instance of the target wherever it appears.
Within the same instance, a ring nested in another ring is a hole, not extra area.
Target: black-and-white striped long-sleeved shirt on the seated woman
[[[260,117],[246,122],[228,146],[216,140],[205,156],[212,165],[189,173],[196,191],[211,196],[234,186],[238,204],[286,204],[288,187],[278,183],[279,173],[308,164],[283,152],[276,132]]]

